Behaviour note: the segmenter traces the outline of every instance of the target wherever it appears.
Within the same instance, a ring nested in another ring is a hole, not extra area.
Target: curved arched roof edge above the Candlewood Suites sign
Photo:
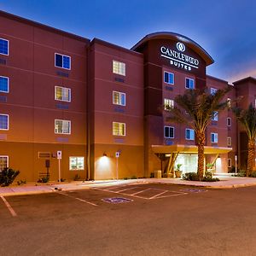
[[[131,50],[137,50],[139,47],[146,44],[149,40],[159,39],[159,38],[166,38],[166,39],[176,39],[183,43],[189,44],[190,48],[194,49],[197,54],[201,56],[201,58],[206,61],[207,66],[211,65],[214,61],[212,57],[207,53],[205,49],[203,49],[199,44],[195,43],[190,38],[187,38],[181,34],[174,33],[174,32],[154,32],[148,34],[143,39],[141,39],[137,44],[131,47]]]

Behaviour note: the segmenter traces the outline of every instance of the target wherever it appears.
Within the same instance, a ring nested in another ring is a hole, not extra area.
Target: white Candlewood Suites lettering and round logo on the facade
[[[170,64],[175,67],[180,67],[186,70],[192,70],[193,68],[198,68],[199,61],[189,55],[183,54],[186,47],[183,43],[178,42],[176,44],[176,49],[169,49],[166,46],[160,47],[161,57],[170,60]]]

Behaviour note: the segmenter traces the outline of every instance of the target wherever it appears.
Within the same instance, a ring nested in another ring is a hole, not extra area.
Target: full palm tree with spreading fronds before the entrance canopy
[[[229,90],[230,88],[217,90],[214,94],[207,90],[186,90],[183,95],[175,97],[175,107],[170,109],[170,116],[167,117],[168,121],[189,125],[195,131],[195,144],[198,148],[197,174],[200,180],[204,175],[207,125],[217,112],[228,108],[228,102],[224,102],[223,98]]]

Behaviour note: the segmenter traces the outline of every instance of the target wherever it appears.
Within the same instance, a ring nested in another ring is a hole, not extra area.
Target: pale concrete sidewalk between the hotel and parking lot
[[[179,178],[139,178],[129,180],[101,180],[101,181],[85,181],[71,183],[49,183],[40,185],[20,185],[11,187],[0,187],[0,196],[8,195],[32,195],[42,193],[52,193],[55,191],[67,191],[75,189],[90,189],[91,187],[137,184],[137,183],[166,183],[206,187],[209,189],[234,189],[247,186],[256,186],[255,177],[231,177],[230,175],[217,175],[219,182],[195,182],[186,181]]]

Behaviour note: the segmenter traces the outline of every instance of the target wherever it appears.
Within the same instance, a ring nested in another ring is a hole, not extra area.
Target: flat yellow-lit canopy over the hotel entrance
[[[152,145],[152,150],[155,154],[170,154],[170,153],[184,153],[184,154],[197,154],[197,146],[195,145]],[[232,148],[224,147],[209,147],[205,146],[205,154],[227,154]]]

